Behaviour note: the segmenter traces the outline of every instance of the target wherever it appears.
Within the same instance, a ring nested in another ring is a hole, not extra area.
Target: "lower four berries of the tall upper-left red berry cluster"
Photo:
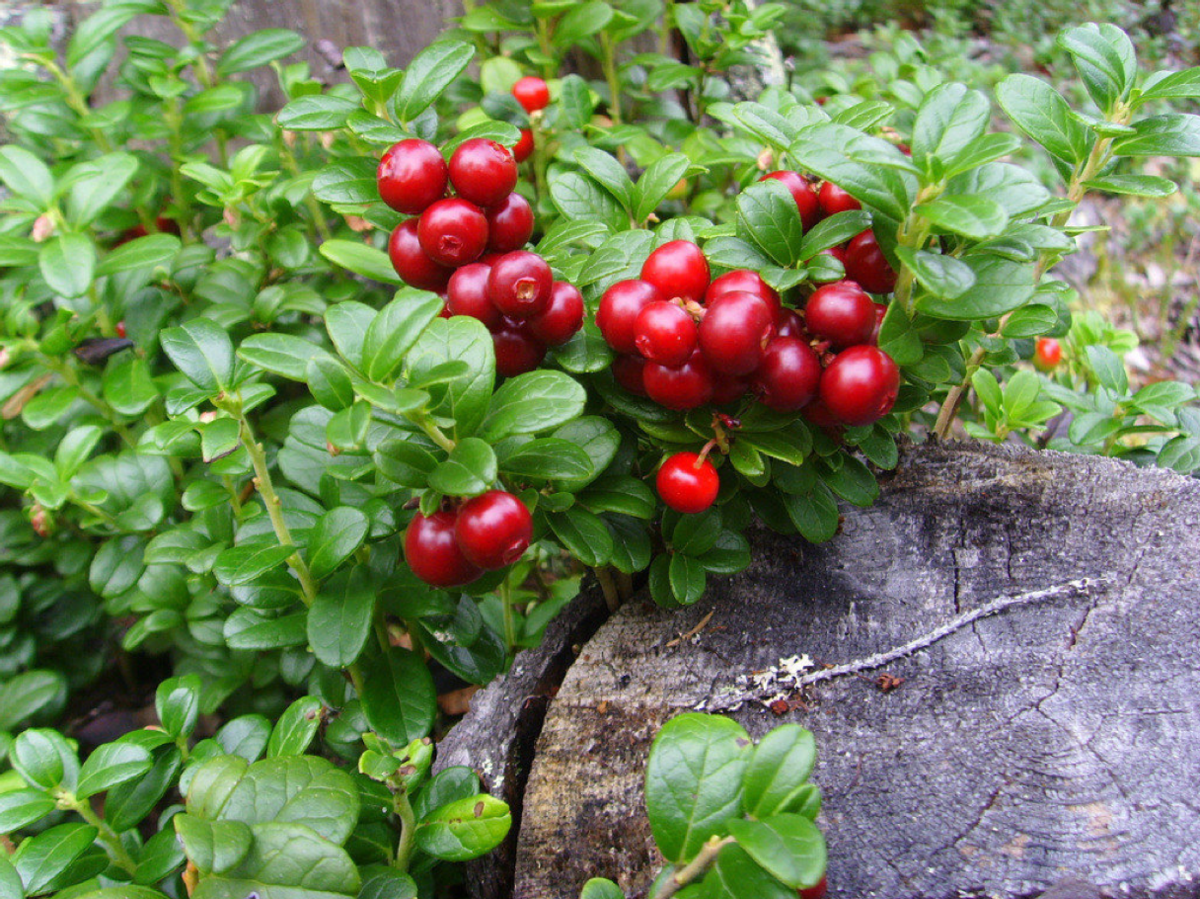
[[[496,370],[504,377],[533,371],[546,347],[566,343],[583,326],[583,296],[554,281],[538,253],[517,250],[464,265],[450,277],[443,314],[470,316],[492,332]]]

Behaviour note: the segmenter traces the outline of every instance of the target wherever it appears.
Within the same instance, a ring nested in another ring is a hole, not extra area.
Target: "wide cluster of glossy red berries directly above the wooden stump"
[[[779,412],[820,402],[830,421],[869,425],[892,410],[900,371],[875,343],[883,306],[853,281],[818,288],[803,314],[754,271],[709,280],[695,244],[673,240],[641,278],[605,292],[596,325],[620,355],[626,390],[670,409],[724,406],[754,392]]]

